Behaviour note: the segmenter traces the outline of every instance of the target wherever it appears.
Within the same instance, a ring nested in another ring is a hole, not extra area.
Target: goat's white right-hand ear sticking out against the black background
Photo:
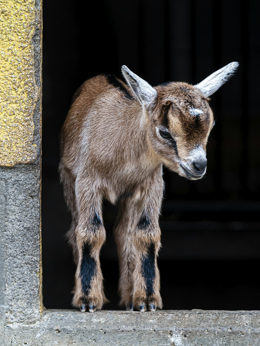
[[[200,91],[202,91],[202,93],[206,97],[208,97],[214,94],[214,92],[217,91],[220,88],[220,86],[223,85],[228,80],[228,78],[233,75],[238,66],[239,63],[234,61],[233,63],[230,63],[222,67],[222,69],[219,69],[216,72],[212,73],[202,82],[194,86],[200,89]]]

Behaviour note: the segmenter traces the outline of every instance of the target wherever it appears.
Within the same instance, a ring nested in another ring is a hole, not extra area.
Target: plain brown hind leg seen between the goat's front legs
[[[136,250],[132,233],[135,229],[136,204],[131,199],[120,202],[119,214],[114,226],[114,235],[119,257],[119,294],[120,304],[133,310],[133,271],[136,267]]]

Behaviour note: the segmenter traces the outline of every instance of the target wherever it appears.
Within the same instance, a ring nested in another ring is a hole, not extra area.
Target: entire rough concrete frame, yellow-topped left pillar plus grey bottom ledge
[[[41,8],[1,1],[0,345],[260,345],[259,311],[43,308]]]

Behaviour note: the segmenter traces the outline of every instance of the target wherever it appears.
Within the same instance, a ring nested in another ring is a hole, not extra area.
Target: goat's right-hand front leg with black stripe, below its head
[[[137,262],[133,272],[133,305],[140,311],[162,309],[157,254],[161,246],[159,212],[163,195],[161,169],[144,186],[139,219],[133,233]]]

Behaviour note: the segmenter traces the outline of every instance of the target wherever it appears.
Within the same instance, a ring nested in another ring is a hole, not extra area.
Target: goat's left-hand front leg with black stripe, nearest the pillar
[[[77,226],[75,229],[78,249],[78,264],[72,304],[93,312],[107,302],[103,289],[103,276],[99,253],[105,241],[102,221],[102,196],[94,184],[84,176],[75,182]]]

